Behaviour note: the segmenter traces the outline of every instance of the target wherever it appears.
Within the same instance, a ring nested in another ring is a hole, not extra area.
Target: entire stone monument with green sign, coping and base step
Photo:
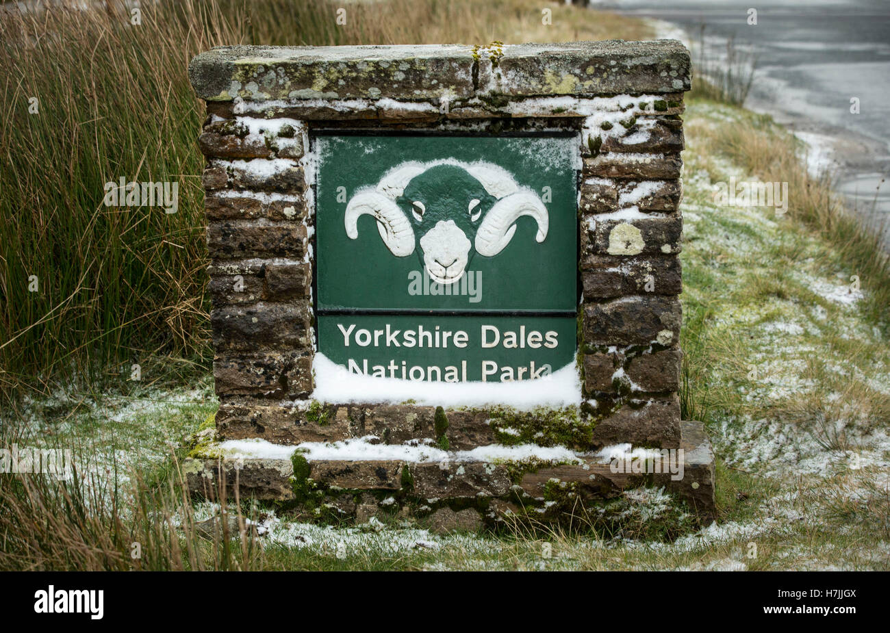
[[[714,512],[678,398],[676,41],[232,46],[207,118],[206,493],[317,516]]]

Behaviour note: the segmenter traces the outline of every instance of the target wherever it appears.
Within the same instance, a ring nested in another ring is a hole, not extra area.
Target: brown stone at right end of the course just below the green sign
[[[593,439],[600,447],[629,442],[634,446],[678,448],[680,398],[675,394],[622,405],[596,423]]]

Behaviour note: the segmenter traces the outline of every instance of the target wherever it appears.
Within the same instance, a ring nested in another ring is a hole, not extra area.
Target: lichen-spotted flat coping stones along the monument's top
[[[490,59],[497,58],[497,66]],[[501,54],[465,45],[223,46],[189,65],[198,97],[229,101],[450,100],[477,90],[575,96],[689,90],[689,52],[676,40],[518,44]]]

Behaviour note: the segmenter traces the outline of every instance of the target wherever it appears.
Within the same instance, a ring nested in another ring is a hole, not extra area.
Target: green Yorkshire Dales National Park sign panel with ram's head
[[[316,136],[320,352],[410,381],[527,381],[573,363],[577,144]]]

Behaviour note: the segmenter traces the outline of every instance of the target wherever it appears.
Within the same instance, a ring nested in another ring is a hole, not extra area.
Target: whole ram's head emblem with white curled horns
[[[505,169],[482,162],[398,165],[376,188],[360,191],[346,204],[347,236],[359,236],[357,222],[365,214],[377,220],[384,244],[396,257],[409,256],[419,244],[423,265],[439,284],[457,282],[474,252],[494,257],[503,251],[523,215],[538,222],[538,243],[547,236],[547,209],[540,197],[520,188]]]

